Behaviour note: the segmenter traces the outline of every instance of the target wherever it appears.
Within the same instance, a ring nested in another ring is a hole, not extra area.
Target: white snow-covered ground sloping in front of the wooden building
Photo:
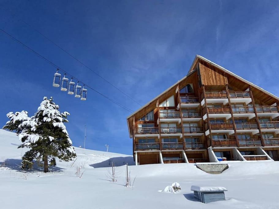
[[[133,157],[76,148],[77,160],[57,162],[51,172],[40,168],[24,173],[19,168],[23,149],[11,132],[0,129],[0,208],[279,208],[279,162],[235,162],[222,174],[207,174],[193,163],[129,166],[135,179],[126,188],[125,169]],[[117,182],[107,179],[115,162]],[[84,166],[81,178],[76,167]],[[70,168],[71,167],[71,168]],[[178,182],[178,193],[158,192]],[[228,189],[226,201],[200,203],[191,185],[214,185]]]

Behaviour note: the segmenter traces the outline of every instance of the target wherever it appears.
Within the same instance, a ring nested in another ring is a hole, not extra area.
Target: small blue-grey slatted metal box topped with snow
[[[228,190],[220,186],[193,185],[191,191],[194,191],[194,197],[202,203],[210,203],[225,200],[224,192]]]

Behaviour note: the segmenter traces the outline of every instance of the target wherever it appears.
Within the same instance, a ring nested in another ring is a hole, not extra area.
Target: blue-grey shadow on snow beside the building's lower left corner
[[[129,157],[115,157],[115,158],[110,158],[108,160],[105,160],[103,162],[98,162],[91,164],[93,168],[105,168],[105,167],[111,167],[112,162],[115,167],[117,166],[123,166],[128,163],[128,166],[133,166],[135,165],[134,158],[132,156]]]

